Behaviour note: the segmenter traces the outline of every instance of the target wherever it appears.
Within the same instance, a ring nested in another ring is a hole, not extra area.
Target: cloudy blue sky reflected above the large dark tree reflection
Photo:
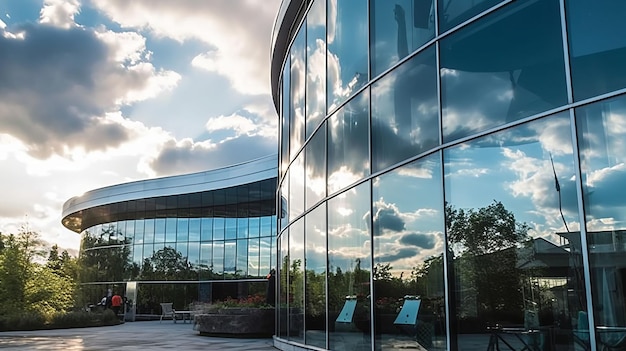
[[[531,227],[531,236],[555,241],[554,233],[567,231],[555,172],[567,226],[579,229],[571,145],[563,113],[445,150],[446,200],[474,210],[500,201]]]

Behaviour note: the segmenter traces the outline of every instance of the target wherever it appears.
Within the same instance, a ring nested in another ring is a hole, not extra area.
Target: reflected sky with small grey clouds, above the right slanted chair
[[[410,277],[443,252],[443,199],[439,154],[374,179],[374,264]]]

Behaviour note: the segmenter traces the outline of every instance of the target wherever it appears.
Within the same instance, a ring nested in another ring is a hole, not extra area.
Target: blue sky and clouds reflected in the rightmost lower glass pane
[[[626,98],[576,110],[587,229],[626,227]]]

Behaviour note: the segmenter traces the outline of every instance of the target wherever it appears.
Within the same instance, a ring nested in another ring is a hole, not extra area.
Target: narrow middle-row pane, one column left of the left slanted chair
[[[326,124],[315,133],[305,149],[306,208],[326,197]]]

